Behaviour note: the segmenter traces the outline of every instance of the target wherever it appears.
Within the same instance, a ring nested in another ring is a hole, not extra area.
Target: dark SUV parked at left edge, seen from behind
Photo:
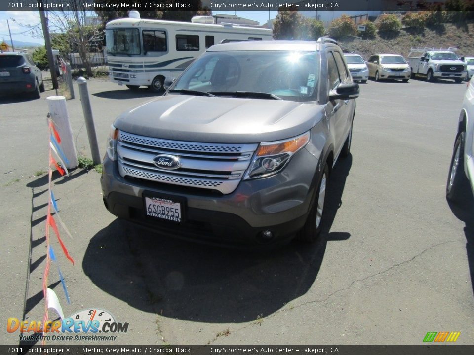
[[[43,91],[43,76],[31,55],[25,52],[0,53],[0,95],[31,93],[39,99]]]

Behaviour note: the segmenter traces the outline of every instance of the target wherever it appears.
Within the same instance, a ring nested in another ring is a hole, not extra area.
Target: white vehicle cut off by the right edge
[[[458,132],[446,184],[448,200],[458,202],[469,190],[474,195],[474,79],[468,83],[459,115]],[[471,188],[469,188],[471,185]]]

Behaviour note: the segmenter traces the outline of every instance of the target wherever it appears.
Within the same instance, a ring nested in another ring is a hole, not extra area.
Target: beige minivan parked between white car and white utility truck
[[[411,68],[405,58],[397,54],[373,54],[367,61],[369,77],[375,81],[386,79],[401,79],[408,82],[411,76]]]

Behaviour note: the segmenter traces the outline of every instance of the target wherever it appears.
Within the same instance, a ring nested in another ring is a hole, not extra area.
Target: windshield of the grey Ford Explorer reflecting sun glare
[[[206,52],[171,89],[216,96],[239,92],[238,97],[265,93],[283,100],[315,101],[318,79],[318,52]]]

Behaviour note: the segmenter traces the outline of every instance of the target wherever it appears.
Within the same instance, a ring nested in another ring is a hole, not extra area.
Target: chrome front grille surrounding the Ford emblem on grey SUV
[[[118,168],[122,177],[228,194],[237,188],[256,149],[257,144],[171,141],[120,132]],[[178,158],[181,166],[174,170],[159,168],[153,159],[160,154]]]

